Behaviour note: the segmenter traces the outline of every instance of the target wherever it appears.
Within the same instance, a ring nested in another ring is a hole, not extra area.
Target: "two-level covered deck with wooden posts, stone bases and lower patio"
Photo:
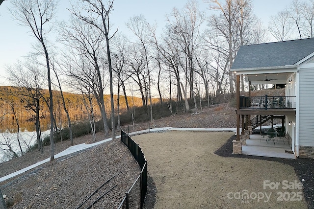
[[[285,132],[285,119],[287,116],[295,116],[296,114],[296,96],[291,95],[291,93],[289,95],[251,96],[251,85],[259,83],[283,85],[286,83],[286,86],[289,86],[294,83],[293,80],[288,80],[292,75],[292,72],[236,73],[237,137],[233,141],[233,153],[295,159],[294,153],[291,153],[291,144],[288,144],[287,139],[284,139],[286,143],[284,144],[282,140],[278,140],[276,137],[274,144],[269,141],[267,143],[265,139],[261,140],[261,135],[252,135],[255,128],[262,127],[262,124],[268,120],[271,120],[271,128],[273,128],[273,120],[276,118],[282,119],[282,130]],[[240,76],[244,76],[248,81],[248,96],[241,96],[240,94]]]

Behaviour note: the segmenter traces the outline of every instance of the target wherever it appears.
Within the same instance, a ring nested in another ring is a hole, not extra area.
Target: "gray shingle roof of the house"
[[[232,70],[293,65],[314,52],[314,38],[241,46]]]

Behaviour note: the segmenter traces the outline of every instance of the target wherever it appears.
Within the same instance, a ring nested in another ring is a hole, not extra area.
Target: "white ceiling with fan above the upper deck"
[[[244,75],[246,82],[256,84],[285,84],[291,73],[267,73]]]

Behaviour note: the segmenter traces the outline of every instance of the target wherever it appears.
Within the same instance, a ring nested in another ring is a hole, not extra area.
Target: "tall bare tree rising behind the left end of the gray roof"
[[[245,43],[247,28],[252,23],[251,0],[207,0],[219,12],[209,18],[208,46],[228,57],[229,86],[234,95],[234,76],[230,70],[238,47]]]

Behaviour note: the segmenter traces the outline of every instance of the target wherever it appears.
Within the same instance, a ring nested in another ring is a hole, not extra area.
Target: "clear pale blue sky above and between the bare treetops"
[[[58,20],[68,20],[71,0],[60,0],[58,6]],[[203,0],[197,0],[200,10],[206,12],[209,17],[212,11],[209,10],[209,4]],[[176,7],[181,9],[187,0],[115,0],[114,10],[110,21],[114,23],[113,28],[128,33],[125,23],[134,15],[144,15],[148,23],[157,22],[159,28],[165,24],[165,15],[170,13]],[[269,17],[285,9],[292,0],[253,0],[254,13],[267,25]],[[4,0],[0,6],[0,86],[10,85],[5,79],[5,66],[14,65],[18,60],[23,60],[30,51],[34,37],[28,28],[18,24],[13,20],[9,12],[12,5],[10,0]],[[127,34],[128,35],[128,34]]]

